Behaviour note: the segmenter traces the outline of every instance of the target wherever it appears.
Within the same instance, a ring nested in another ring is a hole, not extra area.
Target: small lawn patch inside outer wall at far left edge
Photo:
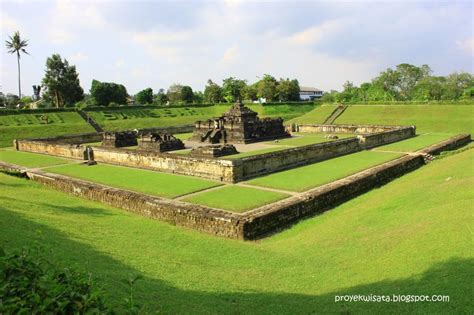
[[[6,149],[0,150],[0,161],[26,167],[45,167],[71,163],[70,160],[55,156]]]

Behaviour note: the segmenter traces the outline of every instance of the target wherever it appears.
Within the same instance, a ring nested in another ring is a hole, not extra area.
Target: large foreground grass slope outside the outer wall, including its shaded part
[[[470,314],[474,150],[451,155],[258,242],[234,241],[0,174],[0,244],[39,244],[91,273],[119,314]],[[449,295],[448,303],[335,295]]]

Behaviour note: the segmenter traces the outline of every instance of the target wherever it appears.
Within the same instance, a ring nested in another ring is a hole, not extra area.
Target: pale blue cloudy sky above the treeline
[[[29,40],[22,92],[54,53],[129,94],[263,74],[340,90],[400,63],[473,73],[473,1],[4,1],[0,34]],[[18,94],[15,55],[0,53],[0,91]]]

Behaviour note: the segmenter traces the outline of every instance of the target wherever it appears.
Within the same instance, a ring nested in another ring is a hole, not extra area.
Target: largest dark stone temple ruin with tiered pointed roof
[[[244,106],[235,103],[221,117],[197,121],[191,140],[208,143],[251,143],[289,137],[283,119],[263,118]]]

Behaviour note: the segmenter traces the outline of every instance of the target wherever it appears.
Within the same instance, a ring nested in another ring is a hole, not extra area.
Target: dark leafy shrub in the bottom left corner
[[[0,314],[110,314],[89,276],[0,248]]]

